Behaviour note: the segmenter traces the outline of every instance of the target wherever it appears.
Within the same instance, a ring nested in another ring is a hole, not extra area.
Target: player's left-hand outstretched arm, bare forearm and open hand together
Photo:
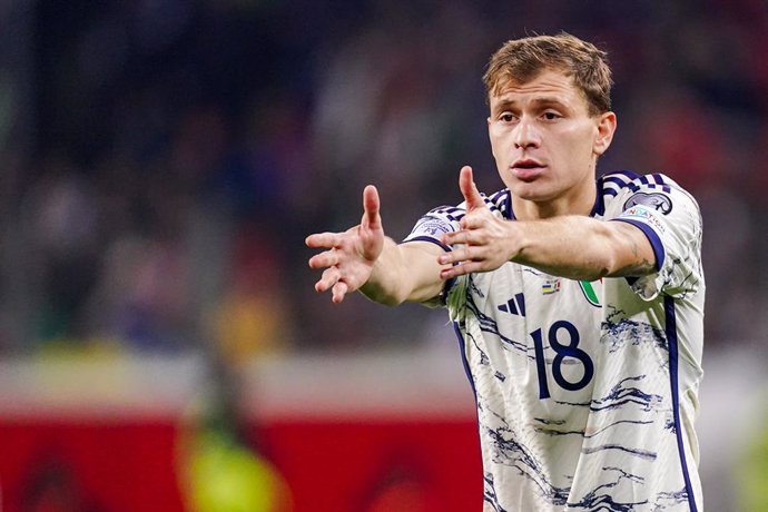
[[[360,225],[306,238],[308,247],[327,249],[309,258],[309,267],[325,268],[315,289],[331,291],[336,304],[354,291],[390,306],[434,298],[443,288],[437,263],[443,249],[426,242],[397,245],[384,235],[380,207],[378,191],[368,185]]]

